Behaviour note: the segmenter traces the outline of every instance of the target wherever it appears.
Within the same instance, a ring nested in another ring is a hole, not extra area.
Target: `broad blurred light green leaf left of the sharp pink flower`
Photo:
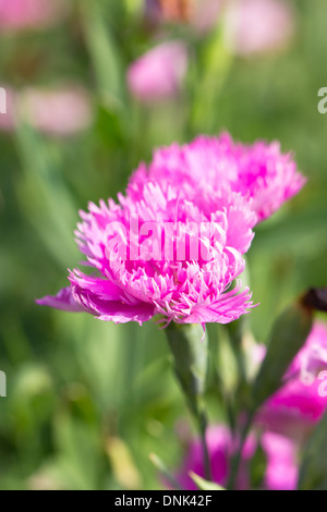
[[[17,185],[21,207],[60,266],[66,265],[78,255],[72,236],[77,207],[61,173],[61,158],[25,123],[15,135],[24,172]]]

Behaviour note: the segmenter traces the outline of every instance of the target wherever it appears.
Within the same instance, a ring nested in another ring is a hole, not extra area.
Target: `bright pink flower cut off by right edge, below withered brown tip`
[[[327,410],[319,373],[327,369],[327,327],[316,322],[288,369],[283,386],[259,410],[256,423],[302,441]]]

